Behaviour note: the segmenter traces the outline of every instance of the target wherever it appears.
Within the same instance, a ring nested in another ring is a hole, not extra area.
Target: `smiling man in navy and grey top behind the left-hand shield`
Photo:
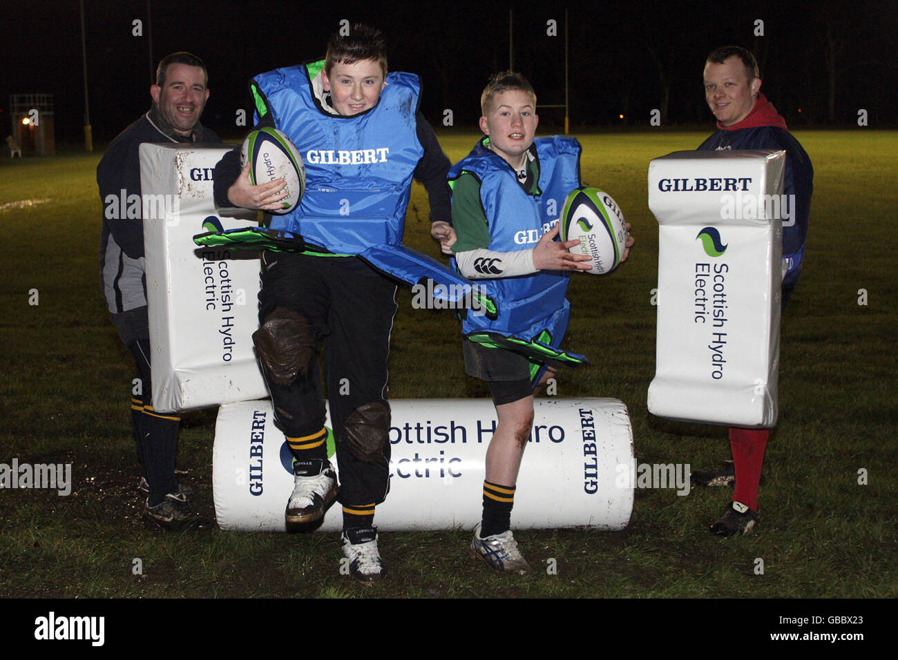
[[[175,477],[180,418],[153,409],[138,149],[144,142],[221,142],[199,123],[209,97],[207,81],[206,65],[198,57],[187,52],[164,57],[150,87],[153,106],[112,140],[97,166],[103,295],[136,363],[131,421],[141,467],[139,488],[147,497],[144,515],[166,529],[191,526],[198,518],[189,505],[191,488]]]

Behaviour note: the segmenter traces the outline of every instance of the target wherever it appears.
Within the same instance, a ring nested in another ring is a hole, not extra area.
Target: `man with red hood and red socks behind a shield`
[[[801,275],[805,255],[814,168],[786,120],[761,93],[758,64],[745,48],[727,46],[708,56],[704,71],[705,100],[718,119],[718,132],[699,150],[782,149],[786,152],[783,177],[782,307]],[[691,482],[703,486],[735,483],[733,501],[711,532],[731,536],[751,530],[758,521],[758,486],[769,428],[730,428],[733,462],[716,471],[693,472]]]

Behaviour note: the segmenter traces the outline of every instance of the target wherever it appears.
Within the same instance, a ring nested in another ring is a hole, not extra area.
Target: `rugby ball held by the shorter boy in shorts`
[[[568,193],[561,210],[561,240],[580,242],[568,248],[592,260],[590,270],[581,273],[604,275],[621,263],[627,243],[627,229],[621,207],[604,190],[577,188]]]

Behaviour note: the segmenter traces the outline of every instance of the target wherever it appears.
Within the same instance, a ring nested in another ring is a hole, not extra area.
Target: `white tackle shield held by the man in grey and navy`
[[[259,252],[199,248],[193,242],[198,233],[256,223],[251,211],[216,209],[213,172],[228,151],[140,145],[157,412],[268,396],[251,339],[259,327]]]

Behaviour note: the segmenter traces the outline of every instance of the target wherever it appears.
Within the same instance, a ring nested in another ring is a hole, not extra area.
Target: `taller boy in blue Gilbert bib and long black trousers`
[[[354,25],[334,35],[322,62],[257,75],[251,92],[256,128],[277,128],[305,163],[299,206],[269,218],[272,229],[302,234],[304,253],[262,256],[260,329],[253,342],[271,392],[275,423],[294,454],[288,529],[319,524],[343,506],[350,574],[370,585],[383,577],[374,506],[390,484],[387,357],[396,285],[357,255],[398,245],[412,178],[427,188],[435,225],[450,221],[446,158],[418,112],[418,76],[387,74],[379,31]],[[216,167],[216,204],[273,211],[283,180],[253,186],[240,149]],[[339,495],[328,453],[318,367],[324,345]]]

